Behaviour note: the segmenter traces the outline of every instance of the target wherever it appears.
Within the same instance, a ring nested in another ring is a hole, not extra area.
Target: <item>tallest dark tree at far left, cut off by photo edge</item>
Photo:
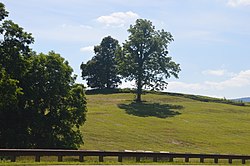
[[[23,108],[23,76],[27,71],[31,52],[29,44],[34,42],[31,34],[10,20],[4,4],[0,3],[0,147],[24,148],[28,144],[29,131]]]

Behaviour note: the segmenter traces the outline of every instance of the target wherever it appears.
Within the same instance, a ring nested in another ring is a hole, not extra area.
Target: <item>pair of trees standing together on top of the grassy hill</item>
[[[173,36],[164,30],[155,30],[152,22],[136,20],[128,29],[128,40],[120,46],[111,36],[94,47],[95,56],[81,64],[82,77],[95,89],[116,88],[121,79],[135,81],[136,102],[141,102],[143,88],[163,90],[167,78],[178,78],[181,71],[168,56],[168,44]]]

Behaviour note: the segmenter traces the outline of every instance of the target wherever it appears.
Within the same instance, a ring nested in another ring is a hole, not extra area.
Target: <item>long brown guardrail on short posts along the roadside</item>
[[[34,156],[36,162],[40,162],[42,156],[57,156],[58,162],[63,161],[64,156],[78,156],[79,162],[84,162],[84,157],[97,156],[99,162],[104,162],[104,157],[117,157],[118,162],[122,162],[124,157],[135,157],[136,162],[140,162],[141,158],[152,158],[153,162],[157,162],[160,158],[168,158],[169,161],[182,158],[185,162],[190,159],[200,159],[204,163],[205,159],[213,159],[214,163],[218,163],[220,159],[228,160],[231,164],[233,160],[241,160],[242,164],[246,164],[246,160],[250,160],[248,155],[226,155],[226,154],[192,154],[192,153],[170,153],[170,152],[151,152],[151,151],[94,151],[94,150],[58,150],[58,149],[0,149],[0,156],[10,157],[12,162],[17,157]]]

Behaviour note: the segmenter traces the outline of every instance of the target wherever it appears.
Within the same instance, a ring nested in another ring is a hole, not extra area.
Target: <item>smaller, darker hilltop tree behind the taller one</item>
[[[120,46],[111,36],[103,38],[100,45],[94,47],[95,56],[86,64],[81,64],[82,77],[91,88],[111,89],[118,86],[116,55]]]

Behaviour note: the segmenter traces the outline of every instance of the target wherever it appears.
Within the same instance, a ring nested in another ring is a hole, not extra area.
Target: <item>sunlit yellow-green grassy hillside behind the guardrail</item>
[[[81,149],[250,154],[248,105],[171,93],[147,93],[141,104],[134,98],[88,94]]]

